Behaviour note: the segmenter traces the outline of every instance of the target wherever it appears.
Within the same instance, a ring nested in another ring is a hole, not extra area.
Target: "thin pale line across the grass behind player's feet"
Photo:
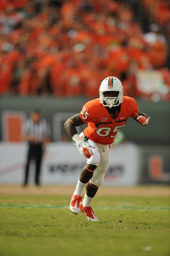
[[[10,204],[1,203],[0,208],[57,208],[69,209],[68,205],[39,205],[39,204]],[[102,210],[154,210],[154,211],[169,211],[170,207],[165,206],[132,206],[132,205],[119,205],[119,206],[93,206],[95,209]]]

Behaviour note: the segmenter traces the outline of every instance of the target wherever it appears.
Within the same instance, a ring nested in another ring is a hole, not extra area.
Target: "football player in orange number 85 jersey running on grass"
[[[123,86],[116,77],[106,77],[100,84],[100,98],[84,104],[82,111],[68,118],[64,127],[75,141],[79,152],[86,158],[73,196],[70,199],[70,211],[84,212],[88,221],[98,221],[91,201],[104,181],[109,164],[109,145],[118,138],[118,131],[128,118],[141,125],[149,124],[149,116],[138,109],[135,99],[123,96]],[[76,127],[88,124],[81,134]],[[86,186],[84,199],[82,191]]]

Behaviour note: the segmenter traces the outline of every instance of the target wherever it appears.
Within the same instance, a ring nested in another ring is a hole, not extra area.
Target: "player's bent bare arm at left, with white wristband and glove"
[[[77,134],[76,127],[81,125],[84,125],[84,122],[80,118],[80,113],[77,113],[72,118],[68,118],[68,120],[66,120],[64,123],[64,128],[66,129],[70,138],[75,141],[79,149],[82,151],[82,154],[84,154],[86,158],[91,158],[91,156],[93,156],[91,146],[88,145],[88,143],[85,143],[84,140],[82,140]]]

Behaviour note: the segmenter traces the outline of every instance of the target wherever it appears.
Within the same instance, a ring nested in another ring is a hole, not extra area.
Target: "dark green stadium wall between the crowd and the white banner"
[[[19,97],[1,96],[0,98],[0,140],[8,141],[6,138],[6,114],[20,114],[21,119],[26,118],[30,111],[39,108],[43,116],[50,123],[52,129],[52,140],[69,140],[64,131],[64,121],[68,116],[77,113],[82,105],[91,99],[87,98],[53,98],[53,97]],[[138,106],[151,116],[148,127],[142,127],[129,118],[126,127],[122,128],[124,139],[138,145],[170,145],[170,102],[148,102],[138,100]],[[13,119],[12,119],[13,120]],[[19,129],[12,122],[12,131]],[[79,130],[81,131],[81,130]],[[18,131],[19,133],[19,131]],[[17,140],[19,141],[19,140]],[[15,142],[13,140],[12,142]]]

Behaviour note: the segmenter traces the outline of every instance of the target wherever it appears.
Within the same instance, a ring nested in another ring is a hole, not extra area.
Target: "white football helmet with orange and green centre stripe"
[[[123,86],[120,80],[116,77],[110,76],[104,78],[100,84],[100,102],[104,107],[116,107],[123,102]],[[106,97],[104,93],[106,91],[117,91],[117,97]]]

